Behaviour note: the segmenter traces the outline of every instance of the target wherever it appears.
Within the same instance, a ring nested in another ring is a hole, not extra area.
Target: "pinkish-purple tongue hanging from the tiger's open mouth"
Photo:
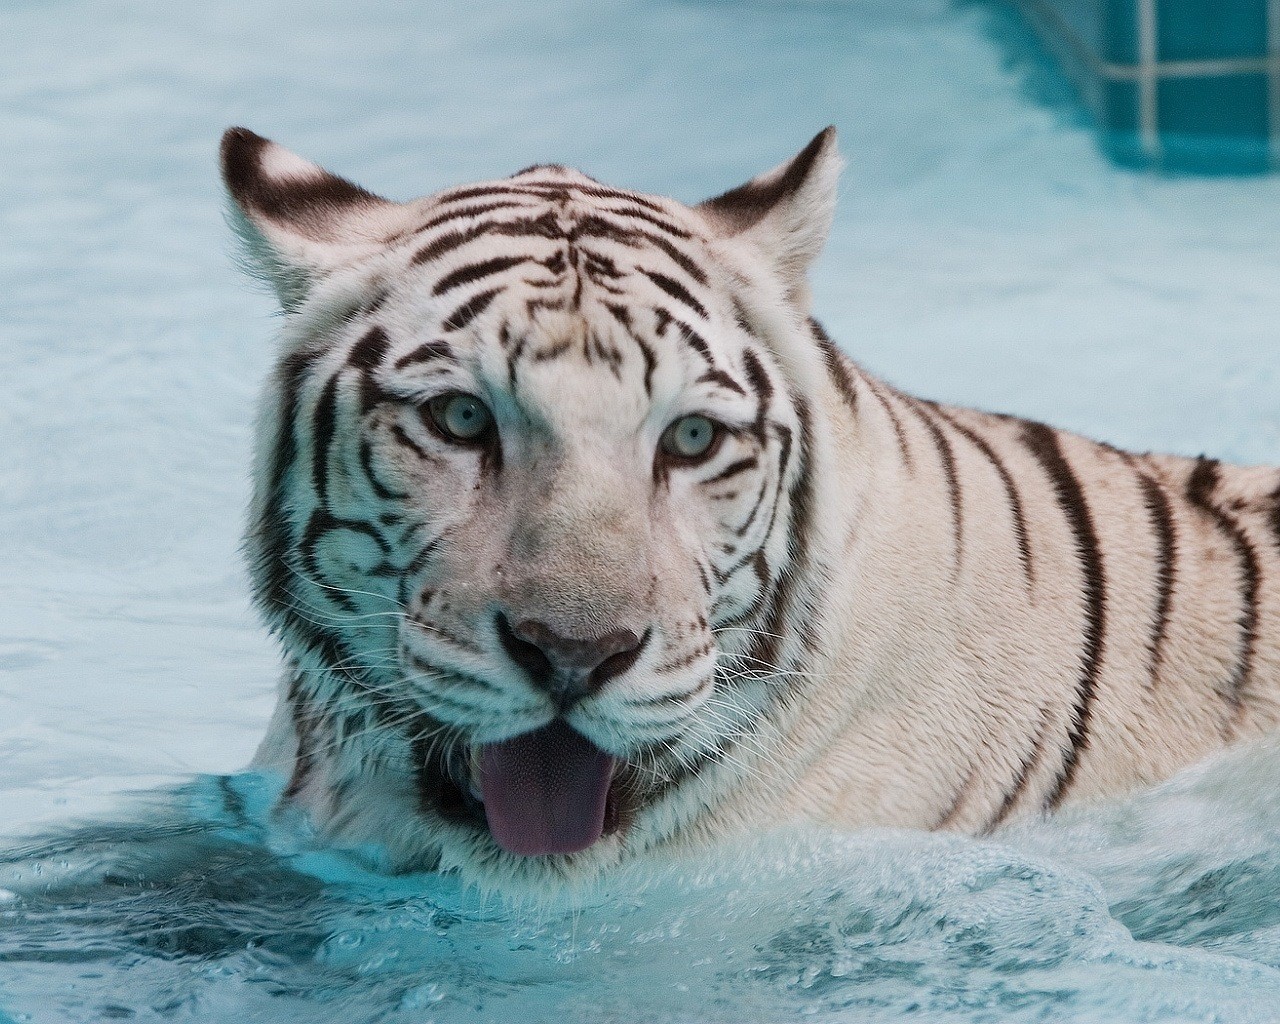
[[[522,856],[573,854],[604,831],[613,758],[563,722],[480,750],[489,831]]]

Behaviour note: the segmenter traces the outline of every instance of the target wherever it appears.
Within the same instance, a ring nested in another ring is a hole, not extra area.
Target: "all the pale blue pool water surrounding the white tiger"
[[[815,307],[856,358],[1239,461],[1280,461],[1280,182],[1110,168],[1007,23],[942,0],[0,26],[0,1020],[1280,1018],[1274,744],[992,842],[774,836],[576,910],[269,824],[270,780],[219,781],[273,700],[236,552],[273,319],[214,150],[243,123],[393,197],[563,160],[696,200],[833,122]]]

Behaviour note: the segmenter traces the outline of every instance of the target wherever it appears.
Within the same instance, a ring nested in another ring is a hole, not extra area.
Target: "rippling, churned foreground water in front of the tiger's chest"
[[[206,778],[0,864],[18,1021],[1267,1021],[1280,745],[997,841],[768,836],[509,905]],[[1176,836],[1176,841],[1170,841]]]

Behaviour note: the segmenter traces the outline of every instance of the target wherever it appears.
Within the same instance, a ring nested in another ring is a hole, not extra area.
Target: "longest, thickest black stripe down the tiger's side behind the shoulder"
[[[1023,422],[1021,439],[1048,476],[1059,507],[1071,527],[1084,589],[1082,671],[1075,687],[1075,707],[1068,731],[1071,748],[1064,755],[1062,767],[1046,797],[1046,806],[1050,810],[1056,810],[1075,781],[1080,755],[1089,746],[1089,719],[1093,714],[1093,699],[1097,695],[1098,675],[1102,669],[1103,637],[1106,635],[1106,575],[1102,567],[1098,535],[1093,529],[1093,517],[1084,500],[1080,481],[1062,454],[1057,433],[1043,424],[1025,421]]]

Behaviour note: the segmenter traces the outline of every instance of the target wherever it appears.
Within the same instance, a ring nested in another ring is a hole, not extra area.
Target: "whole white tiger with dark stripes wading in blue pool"
[[[323,841],[538,887],[790,822],[983,835],[1280,718],[1280,474],[850,361],[805,283],[833,129],[698,206],[221,156],[284,310],[257,764]]]

